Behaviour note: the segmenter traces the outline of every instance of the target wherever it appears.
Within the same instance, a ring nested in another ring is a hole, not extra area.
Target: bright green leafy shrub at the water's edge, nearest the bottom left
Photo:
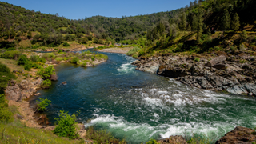
[[[59,118],[55,118],[55,129],[54,134],[57,134],[59,137],[66,137],[70,139],[78,138],[78,133],[76,131],[75,122],[78,114],[72,114],[71,116],[67,111],[60,111],[58,114]]]

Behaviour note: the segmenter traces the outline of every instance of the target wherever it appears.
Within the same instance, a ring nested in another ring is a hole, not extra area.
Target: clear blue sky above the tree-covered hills
[[[56,14],[69,19],[102,15],[106,17],[134,16],[175,10],[190,4],[191,0],[5,0],[29,10]],[[194,1],[194,0],[193,0]]]

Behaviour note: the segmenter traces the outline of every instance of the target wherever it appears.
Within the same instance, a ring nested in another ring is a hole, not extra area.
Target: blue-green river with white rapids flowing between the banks
[[[255,98],[199,90],[135,70],[130,64],[135,59],[125,54],[103,54],[109,60],[98,66],[55,66],[58,82],[38,91],[51,101],[46,112],[50,122],[59,110],[80,110],[79,122],[128,143],[177,134],[198,134],[214,142],[235,126],[256,127]]]

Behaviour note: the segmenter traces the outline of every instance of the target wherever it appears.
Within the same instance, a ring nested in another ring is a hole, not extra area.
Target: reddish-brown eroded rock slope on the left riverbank
[[[42,85],[42,78],[26,79],[16,84],[11,82],[12,86],[7,86],[5,90],[6,98],[14,102],[21,102],[23,99],[30,98]]]

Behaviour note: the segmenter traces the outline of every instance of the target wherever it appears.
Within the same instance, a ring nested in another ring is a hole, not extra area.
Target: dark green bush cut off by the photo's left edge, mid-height
[[[6,88],[11,79],[16,79],[16,76],[10,72],[6,65],[0,63],[0,94],[3,93],[3,89]]]

